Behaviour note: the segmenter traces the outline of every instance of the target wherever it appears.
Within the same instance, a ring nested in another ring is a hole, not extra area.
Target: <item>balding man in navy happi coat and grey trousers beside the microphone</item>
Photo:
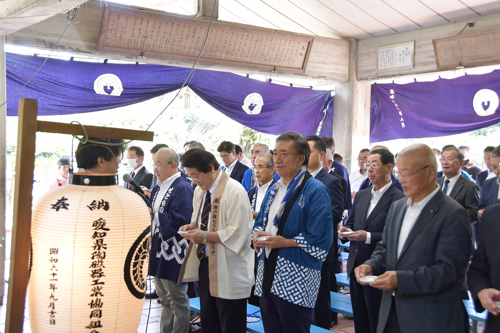
[[[177,231],[191,218],[193,190],[178,165],[179,155],[171,148],[154,155],[158,181],[148,202],[152,211],[149,275],[154,276],[161,301],[161,333],[186,333],[189,328],[187,284],[177,285],[188,242]]]

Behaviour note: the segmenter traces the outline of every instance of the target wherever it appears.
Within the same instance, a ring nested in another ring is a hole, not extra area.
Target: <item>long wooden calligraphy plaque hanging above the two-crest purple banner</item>
[[[196,60],[208,21],[108,5],[98,51]],[[314,37],[212,22],[199,59],[243,68],[304,73]]]

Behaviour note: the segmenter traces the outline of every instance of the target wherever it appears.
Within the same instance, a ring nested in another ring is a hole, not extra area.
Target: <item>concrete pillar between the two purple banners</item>
[[[343,157],[349,174],[357,168],[357,155],[367,148],[370,133],[370,83],[358,82],[357,40],[350,40],[349,80],[335,83],[333,134],[335,153]],[[351,157],[351,160],[347,158]]]

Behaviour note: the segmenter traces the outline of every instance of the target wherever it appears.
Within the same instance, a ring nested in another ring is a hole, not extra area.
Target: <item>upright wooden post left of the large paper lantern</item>
[[[6,333],[22,333],[31,244],[31,202],[38,101],[19,98],[15,159],[14,216],[10,250]]]

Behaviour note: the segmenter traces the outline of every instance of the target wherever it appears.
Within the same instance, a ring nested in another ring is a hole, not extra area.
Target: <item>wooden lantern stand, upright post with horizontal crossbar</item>
[[[5,333],[22,333],[31,244],[31,205],[36,132],[85,135],[79,124],[38,121],[38,100],[19,98],[15,158],[14,215]],[[89,137],[153,141],[153,132],[85,126]]]

